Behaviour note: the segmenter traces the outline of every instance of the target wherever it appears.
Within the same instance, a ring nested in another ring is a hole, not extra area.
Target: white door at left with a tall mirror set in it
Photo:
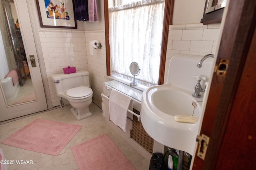
[[[2,41],[2,47],[4,48],[2,51],[5,51],[5,56],[4,53],[1,53],[0,58],[6,57],[7,59],[1,59],[0,62],[2,63],[0,63],[0,66],[6,61],[7,64],[4,65],[8,65],[8,70],[5,72],[16,70],[19,82],[16,86],[8,86],[7,84],[6,87],[4,83],[8,82],[6,81],[8,78],[4,79],[2,75],[0,83],[0,121],[47,109],[27,2],[26,0],[14,0],[12,4],[9,3],[10,0],[1,0],[1,2],[3,1],[5,2],[1,4],[0,8],[4,6],[5,9],[0,10],[2,12],[0,15],[5,15],[6,20],[4,21],[4,17],[0,18],[0,25],[3,25],[0,26],[2,34],[0,47]],[[7,9],[10,8],[8,3],[11,4],[11,10]],[[6,22],[7,26],[3,24],[4,22]],[[23,45],[20,45],[22,43],[19,43],[19,40],[21,40]],[[24,48],[23,51],[22,48]],[[16,63],[15,66],[14,63]],[[2,74],[6,75],[7,73],[2,72]],[[13,95],[8,97],[8,93],[13,93]]]

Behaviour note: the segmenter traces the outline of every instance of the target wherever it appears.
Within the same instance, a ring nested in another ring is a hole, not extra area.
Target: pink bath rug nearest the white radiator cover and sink
[[[106,134],[76,145],[71,150],[80,170],[135,170]]]

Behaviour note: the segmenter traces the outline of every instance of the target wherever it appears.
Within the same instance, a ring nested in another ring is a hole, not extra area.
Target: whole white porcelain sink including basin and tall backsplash
[[[204,75],[208,81],[213,59],[207,59],[202,68],[196,65],[203,56],[175,55],[170,60],[168,80],[164,85],[152,86],[142,94],[141,122],[154,140],[193,156],[196,136],[202,119],[203,93],[194,98],[194,75]],[[202,82],[204,86],[205,82]],[[196,123],[175,120],[176,115],[193,116]]]

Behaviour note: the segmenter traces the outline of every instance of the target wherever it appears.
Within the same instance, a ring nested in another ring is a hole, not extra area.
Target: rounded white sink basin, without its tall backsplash
[[[152,86],[142,94],[141,122],[145,131],[159,143],[193,155],[197,123],[184,123],[174,116],[200,119],[202,99],[169,85]]]

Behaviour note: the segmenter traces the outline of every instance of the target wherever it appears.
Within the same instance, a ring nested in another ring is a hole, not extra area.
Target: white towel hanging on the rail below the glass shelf
[[[112,89],[109,96],[109,119],[127,132],[127,110],[132,98]]]

